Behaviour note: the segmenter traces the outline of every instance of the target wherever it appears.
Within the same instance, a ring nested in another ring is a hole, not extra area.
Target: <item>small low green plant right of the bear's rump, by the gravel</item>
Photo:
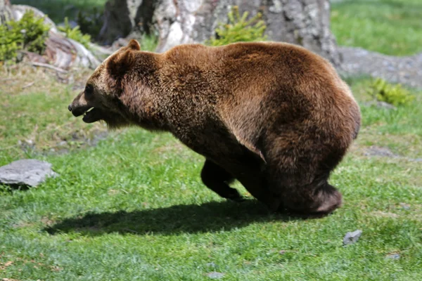
[[[401,84],[392,85],[384,79],[375,79],[368,93],[376,100],[390,103],[394,106],[407,105],[415,98]]]

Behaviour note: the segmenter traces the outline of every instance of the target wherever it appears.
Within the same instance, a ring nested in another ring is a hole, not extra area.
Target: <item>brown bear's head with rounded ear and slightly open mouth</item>
[[[110,128],[133,124],[138,113],[133,105],[148,93],[143,74],[151,72],[153,55],[140,50],[138,41],[132,39],[110,55],[89,77],[84,91],[68,110],[75,117],[84,115],[82,120],[86,123],[103,120]]]

